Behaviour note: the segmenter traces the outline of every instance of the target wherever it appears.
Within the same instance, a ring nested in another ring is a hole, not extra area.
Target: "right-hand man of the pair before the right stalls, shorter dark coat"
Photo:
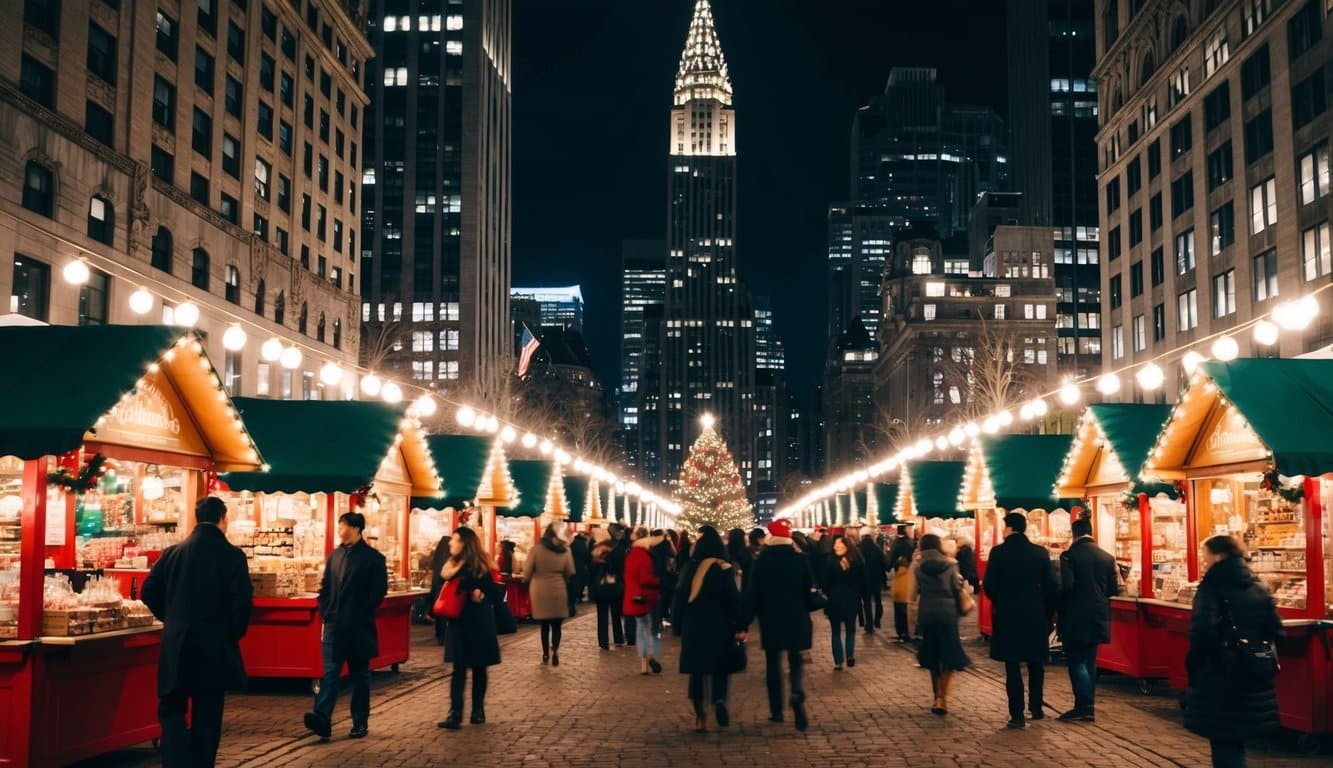
[[[1120,593],[1116,559],[1092,539],[1092,520],[1072,524],[1074,540],[1060,555],[1060,640],[1069,661],[1074,708],[1061,720],[1096,720],[1097,645],[1110,643],[1110,599]]]

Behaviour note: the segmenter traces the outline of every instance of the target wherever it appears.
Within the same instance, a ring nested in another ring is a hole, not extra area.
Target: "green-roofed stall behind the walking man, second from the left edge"
[[[247,553],[255,584],[245,673],[321,677],[317,592],[345,512],[365,515],[365,540],[388,568],[371,668],[397,668],[409,655],[412,603],[424,593],[407,580],[409,499],[440,492],[420,424],[401,405],[371,401],[237,397],[236,408],[268,463],[263,472],[221,476],[232,509],[227,536]]]

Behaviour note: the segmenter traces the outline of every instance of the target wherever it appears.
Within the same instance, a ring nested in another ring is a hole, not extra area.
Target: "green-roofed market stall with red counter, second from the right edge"
[[[1098,648],[1097,667],[1137,677],[1145,692],[1153,679],[1169,675],[1169,641],[1164,628],[1148,620],[1149,608],[1140,599],[1153,599],[1154,579],[1166,579],[1184,565],[1182,559],[1177,565],[1177,549],[1153,545],[1169,540],[1169,520],[1177,511],[1184,520],[1184,504],[1176,500],[1174,487],[1138,477],[1169,417],[1170,405],[1089,405],[1054,488],[1060,497],[1082,499],[1097,544],[1116,557],[1124,577],[1122,593],[1110,600],[1110,643]],[[1164,525],[1154,528],[1154,519]]]

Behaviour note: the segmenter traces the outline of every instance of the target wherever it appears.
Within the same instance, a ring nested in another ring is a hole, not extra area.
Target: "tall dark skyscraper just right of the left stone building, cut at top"
[[[376,0],[363,360],[483,388],[512,368],[509,0]]]

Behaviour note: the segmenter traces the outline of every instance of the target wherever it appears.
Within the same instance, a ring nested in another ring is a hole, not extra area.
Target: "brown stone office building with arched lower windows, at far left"
[[[351,395],[316,373],[357,357],[364,4],[175,7],[9,5],[0,295],[44,323],[195,325],[233,395]],[[295,365],[261,357],[275,337]]]

